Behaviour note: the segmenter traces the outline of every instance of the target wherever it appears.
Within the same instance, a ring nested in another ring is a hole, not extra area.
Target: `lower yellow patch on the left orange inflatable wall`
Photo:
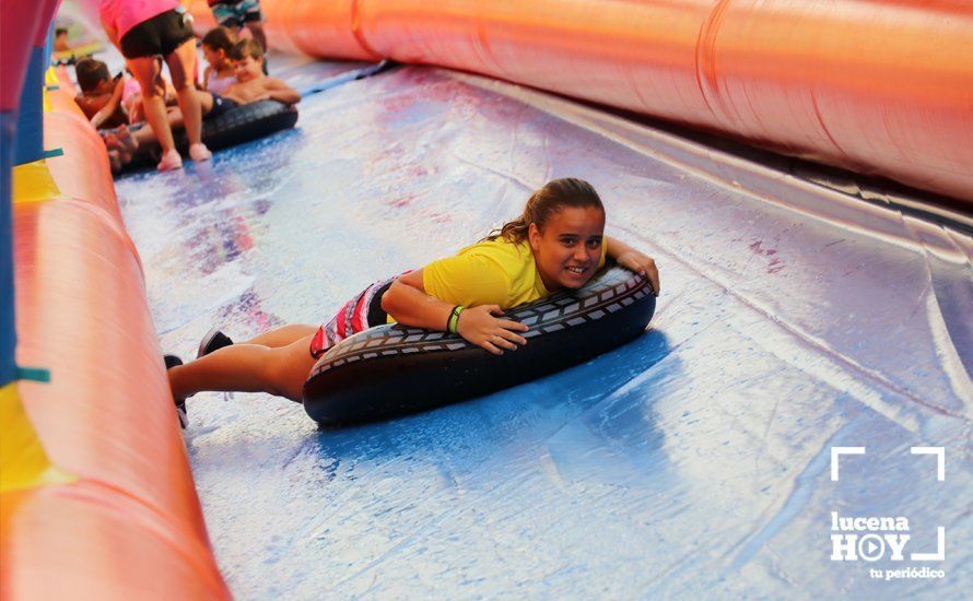
[[[0,493],[74,482],[56,468],[40,446],[21,403],[16,382],[0,389]]]

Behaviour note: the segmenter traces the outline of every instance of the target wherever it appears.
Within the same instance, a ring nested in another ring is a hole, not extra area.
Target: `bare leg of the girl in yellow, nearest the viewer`
[[[269,392],[301,402],[304,382],[315,358],[312,337],[286,346],[271,349],[259,344],[233,344],[186,365],[168,370],[175,399],[203,390]]]

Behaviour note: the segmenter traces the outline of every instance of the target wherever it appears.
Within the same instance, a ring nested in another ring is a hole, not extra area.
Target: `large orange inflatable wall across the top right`
[[[282,49],[474,71],[973,201],[968,0],[260,5]]]

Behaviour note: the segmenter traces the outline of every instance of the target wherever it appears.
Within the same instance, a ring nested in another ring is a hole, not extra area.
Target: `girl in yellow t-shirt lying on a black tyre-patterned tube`
[[[220,331],[200,342],[197,361],[166,356],[173,398],[186,426],[185,399],[202,390],[270,392],[301,402],[325,351],[354,333],[398,321],[449,330],[494,354],[527,343],[527,326],[503,310],[554,291],[578,288],[606,256],[646,275],[658,295],[655,261],[603,235],[605,208],[587,181],[554,179],[531,195],[524,213],[454,257],[376,282],[321,327],[292,325],[234,344]]]

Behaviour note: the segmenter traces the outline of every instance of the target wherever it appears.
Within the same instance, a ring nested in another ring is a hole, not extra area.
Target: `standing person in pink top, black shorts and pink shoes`
[[[160,170],[178,169],[183,158],[166,120],[162,56],[168,64],[194,161],[212,157],[200,138],[202,111],[196,91],[196,37],[179,0],[101,0],[98,14],[112,43],[142,89],[145,120],[162,146]]]

